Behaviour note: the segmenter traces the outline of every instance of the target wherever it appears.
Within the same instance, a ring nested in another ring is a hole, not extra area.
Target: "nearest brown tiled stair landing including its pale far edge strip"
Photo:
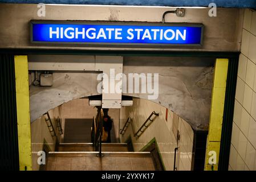
[[[155,171],[150,152],[49,152],[47,171]]]

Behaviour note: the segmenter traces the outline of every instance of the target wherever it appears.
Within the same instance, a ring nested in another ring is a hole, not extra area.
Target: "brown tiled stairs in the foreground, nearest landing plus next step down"
[[[60,143],[48,152],[47,171],[155,171],[150,152],[129,152],[127,143],[102,143],[97,157],[92,143]]]

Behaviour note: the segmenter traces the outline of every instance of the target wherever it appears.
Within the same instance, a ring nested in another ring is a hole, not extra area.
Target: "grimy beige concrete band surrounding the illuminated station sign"
[[[45,49],[137,49],[109,47],[56,47],[33,46],[30,43],[31,19],[43,20],[101,20],[120,22],[161,22],[162,14],[170,7],[127,6],[63,6],[47,5],[46,17],[37,16],[37,5],[0,4],[0,48],[45,48]],[[168,14],[165,22],[203,23],[204,46],[196,51],[239,51],[243,9],[217,9],[217,16],[208,16],[209,9],[186,9],[184,17]],[[234,21],[235,20],[235,21]],[[144,48],[140,48],[142,50]],[[147,48],[152,50],[152,48]],[[164,50],[159,48],[158,50]],[[165,50],[185,50],[167,48]]]

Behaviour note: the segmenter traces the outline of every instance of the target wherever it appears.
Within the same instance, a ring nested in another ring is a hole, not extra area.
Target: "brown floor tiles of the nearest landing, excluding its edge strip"
[[[48,171],[155,171],[152,158],[50,157]]]

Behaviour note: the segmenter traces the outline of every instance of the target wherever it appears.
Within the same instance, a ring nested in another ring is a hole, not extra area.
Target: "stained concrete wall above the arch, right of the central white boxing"
[[[195,130],[208,129],[214,59],[124,57],[123,72],[159,73],[159,97],[152,100],[184,118]],[[147,94],[128,94],[148,99]]]

